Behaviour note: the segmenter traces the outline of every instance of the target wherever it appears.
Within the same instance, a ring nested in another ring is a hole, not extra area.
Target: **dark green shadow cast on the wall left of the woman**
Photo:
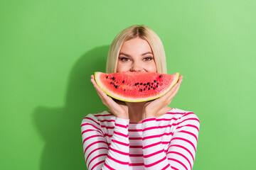
[[[38,106],[33,113],[41,136],[46,141],[41,170],[86,169],[80,125],[89,113],[106,110],[90,81],[94,72],[105,72],[110,45],[86,52],[70,72],[63,108]],[[50,96],[49,96],[50,97]]]

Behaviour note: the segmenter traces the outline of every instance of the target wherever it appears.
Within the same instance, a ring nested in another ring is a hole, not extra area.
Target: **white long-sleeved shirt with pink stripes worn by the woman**
[[[199,119],[172,108],[142,123],[103,111],[82,120],[82,145],[87,169],[192,169]]]

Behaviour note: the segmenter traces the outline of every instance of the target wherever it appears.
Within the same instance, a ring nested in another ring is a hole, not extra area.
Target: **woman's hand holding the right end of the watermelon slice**
[[[183,81],[183,76],[180,76],[178,78],[178,82],[171,88],[170,91],[168,91],[164,96],[161,96],[160,98],[157,98],[154,101],[146,102],[143,108],[142,112],[142,118],[152,118],[152,117],[158,117],[159,111],[168,106],[171,103],[171,100],[174,98],[174,96],[178,93],[178,89],[181,86],[181,81]]]

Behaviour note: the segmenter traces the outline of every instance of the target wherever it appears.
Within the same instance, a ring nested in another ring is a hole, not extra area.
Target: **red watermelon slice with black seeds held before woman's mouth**
[[[100,89],[112,98],[119,101],[142,102],[166,94],[177,83],[179,76],[179,72],[95,72],[95,81]]]

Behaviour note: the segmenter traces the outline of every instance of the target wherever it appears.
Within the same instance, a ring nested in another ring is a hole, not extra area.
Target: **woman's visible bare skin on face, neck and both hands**
[[[156,71],[154,55],[146,40],[134,38],[124,42],[119,52],[117,72]],[[107,96],[99,86],[97,86],[93,75],[91,76],[91,81],[93,86],[95,86],[97,94],[102,99],[102,103],[110,109],[110,113],[117,118],[129,119],[130,123],[141,123],[145,118],[158,118],[171,110],[168,105],[171,103],[172,98],[178,93],[181,81],[183,81],[182,78],[183,76],[180,76],[177,84],[175,84],[164,96],[161,96],[154,101],[138,103],[114,101],[110,96]]]

